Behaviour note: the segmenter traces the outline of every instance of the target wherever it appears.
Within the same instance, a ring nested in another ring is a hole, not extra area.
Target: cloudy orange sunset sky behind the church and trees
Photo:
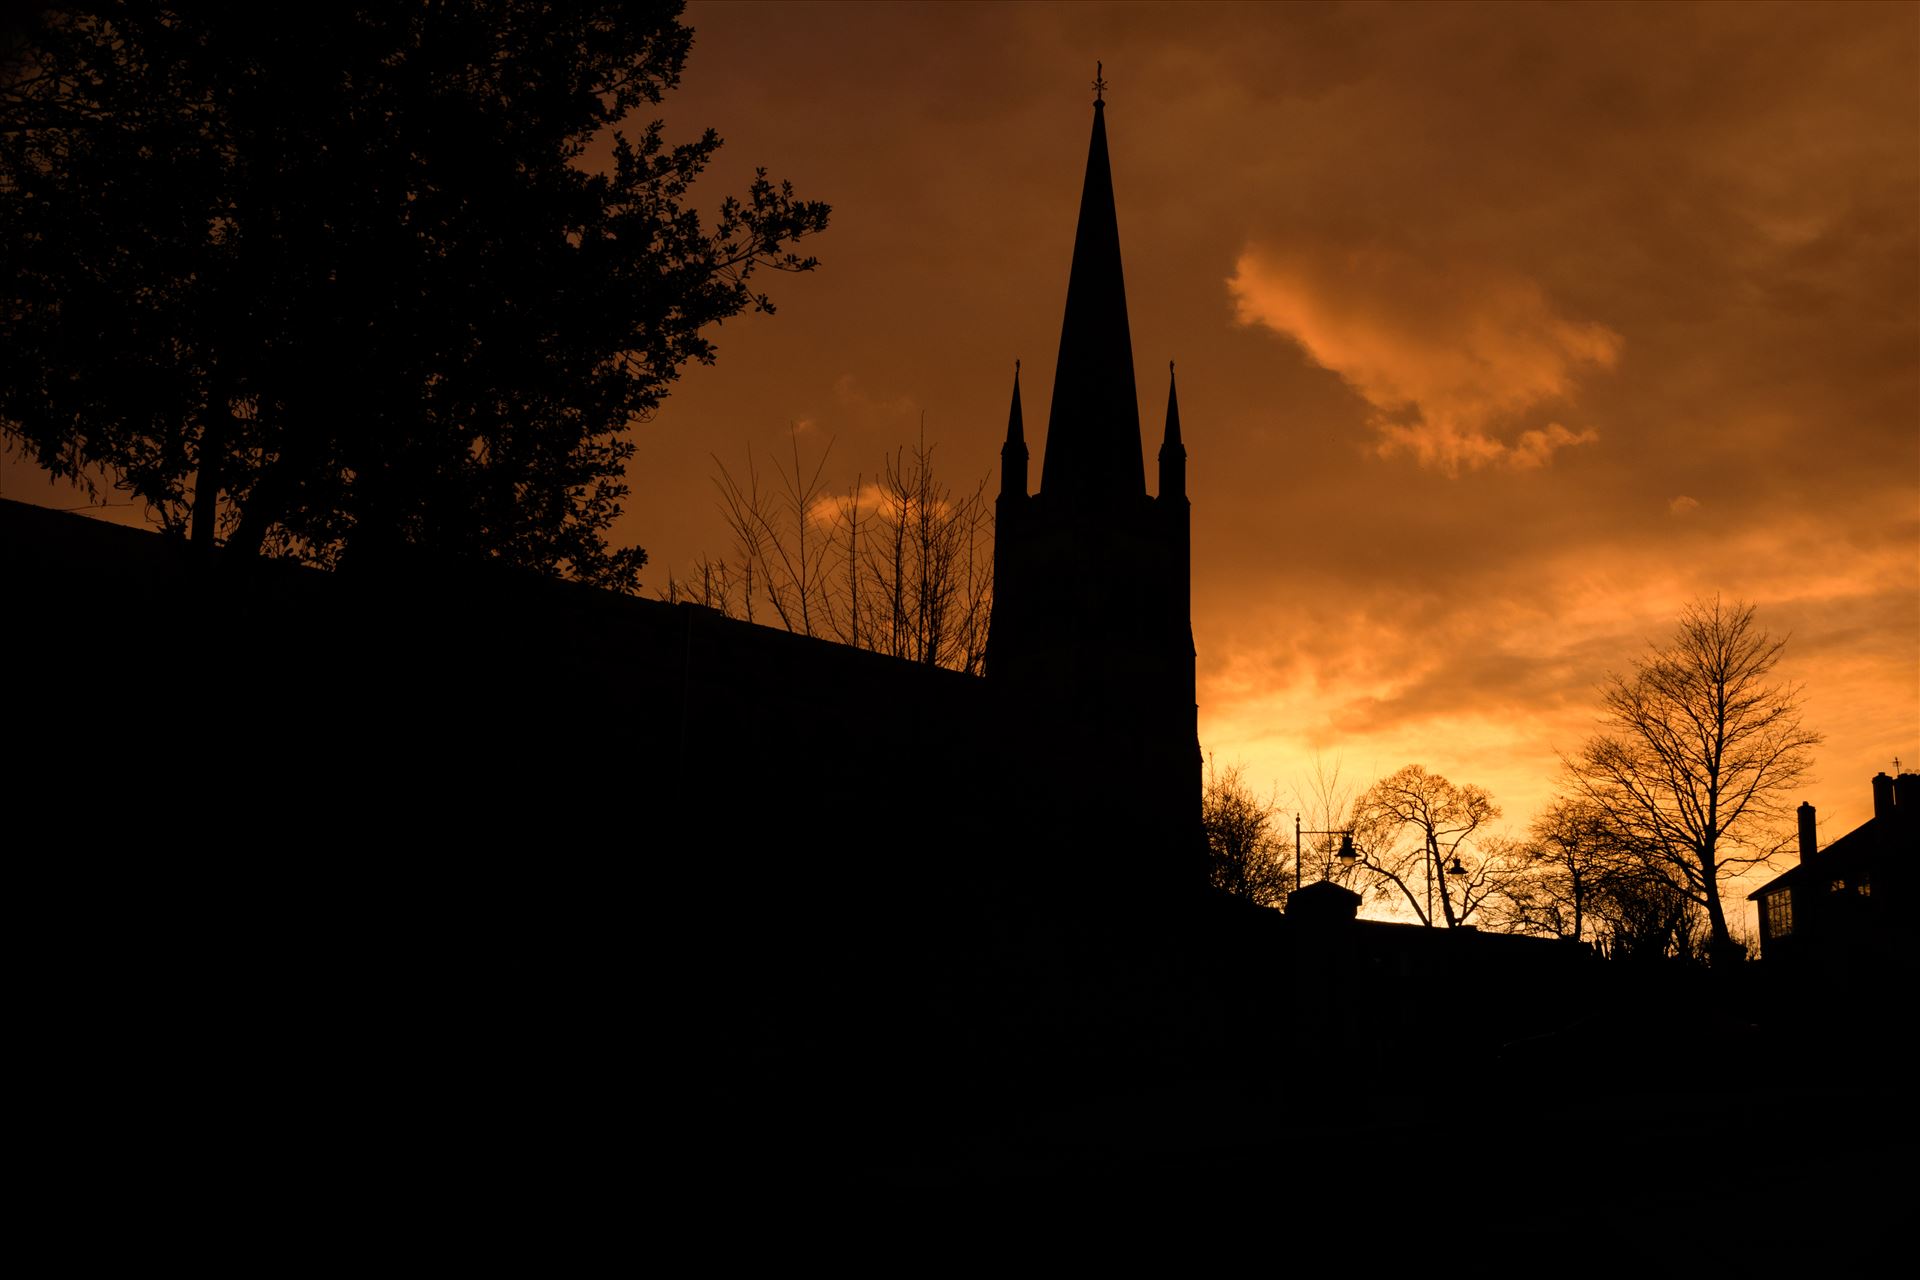
[[[1279,783],[1419,762],[1524,825],[1596,685],[1720,591],[1791,631],[1822,839],[1920,764],[1920,8],[693,4],[660,113],[833,203],[776,317],[636,432],[649,587],[718,453],[922,411],[1041,457],[1089,81],[1158,445],[1181,370],[1200,739]],[[1150,468],[1148,468],[1150,470]],[[8,497],[58,503],[8,466]],[[71,499],[79,501],[79,499]]]

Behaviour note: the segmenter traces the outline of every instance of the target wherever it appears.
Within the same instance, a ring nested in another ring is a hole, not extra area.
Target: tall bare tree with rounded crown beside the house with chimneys
[[[1715,960],[1741,952],[1720,887],[1793,841],[1789,798],[1820,743],[1801,689],[1770,679],[1784,649],[1753,604],[1688,604],[1668,643],[1609,677],[1603,733],[1567,760],[1574,794],[1705,912]]]

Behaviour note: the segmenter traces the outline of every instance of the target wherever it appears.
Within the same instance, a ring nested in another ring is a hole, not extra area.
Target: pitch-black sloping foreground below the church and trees
[[[973,802],[964,677],[0,507],[44,1182],[154,1238],[1559,1268],[1912,1221],[1910,952],[1313,927]]]

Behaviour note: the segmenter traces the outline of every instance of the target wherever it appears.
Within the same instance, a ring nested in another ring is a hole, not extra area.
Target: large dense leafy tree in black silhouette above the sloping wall
[[[0,430],[232,555],[632,589],[628,430],[828,205],[637,129],[680,4],[81,4],[0,90]],[[609,148],[605,161],[589,148]]]

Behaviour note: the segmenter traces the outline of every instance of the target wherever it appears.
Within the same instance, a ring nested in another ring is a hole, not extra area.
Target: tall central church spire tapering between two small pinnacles
[[[1041,464],[1041,493],[1069,503],[1146,495],[1104,90],[1100,77]]]

